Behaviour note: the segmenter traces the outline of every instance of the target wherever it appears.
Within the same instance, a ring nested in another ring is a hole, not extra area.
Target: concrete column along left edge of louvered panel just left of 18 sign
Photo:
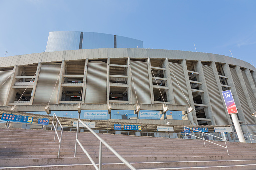
[[[204,91],[204,93],[201,94],[202,102],[203,102],[203,104],[207,105],[207,107],[204,108],[205,116],[206,116],[207,119],[211,119],[211,122],[210,122],[209,125],[214,126],[216,124],[215,124],[215,119],[213,117],[212,106],[211,106],[209,94],[208,94],[208,91],[207,91],[207,85],[206,85],[203,66],[202,66],[201,61],[198,61],[195,66],[196,66],[195,67],[196,72],[199,73],[199,75],[197,76],[197,80],[202,83],[201,86],[199,87],[199,89]]]

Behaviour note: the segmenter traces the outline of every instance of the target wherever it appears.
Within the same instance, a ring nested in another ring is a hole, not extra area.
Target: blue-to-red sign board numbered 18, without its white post
[[[237,108],[235,106],[235,101],[233,99],[231,90],[226,90],[222,92],[222,95],[225,100],[225,104],[227,107],[228,114],[238,113]]]

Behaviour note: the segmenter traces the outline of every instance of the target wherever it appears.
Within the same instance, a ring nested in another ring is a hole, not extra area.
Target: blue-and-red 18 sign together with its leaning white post
[[[226,104],[228,114],[231,114],[231,117],[232,117],[232,120],[233,120],[233,123],[235,126],[235,130],[237,132],[238,139],[240,142],[245,143],[246,141],[244,139],[242,129],[241,129],[240,123],[239,123],[237,115],[236,115],[238,113],[238,111],[237,111],[231,90],[223,91],[222,95],[223,95],[223,98],[224,98],[224,101]]]

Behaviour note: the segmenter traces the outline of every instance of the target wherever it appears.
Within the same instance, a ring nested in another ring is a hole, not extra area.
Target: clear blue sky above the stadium
[[[253,61],[256,1],[0,0],[0,57],[43,52],[50,31],[142,40],[144,48],[207,52]]]

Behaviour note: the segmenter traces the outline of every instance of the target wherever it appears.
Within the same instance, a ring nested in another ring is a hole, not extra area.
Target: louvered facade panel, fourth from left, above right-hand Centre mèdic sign
[[[131,60],[131,74],[132,103],[151,104],[147,62]]]

